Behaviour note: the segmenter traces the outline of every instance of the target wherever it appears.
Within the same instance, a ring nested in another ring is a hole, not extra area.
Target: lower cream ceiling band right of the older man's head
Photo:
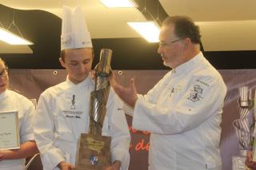
[[[205,51],[256,50],[256,21],[197,22]]]

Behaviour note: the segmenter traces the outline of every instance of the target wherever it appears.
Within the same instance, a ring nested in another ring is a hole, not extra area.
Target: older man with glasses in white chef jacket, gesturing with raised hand
[[[226,85],[200,51],[198,26],[186,16],[166,18],[159,35],[163,61],[172,69],[145,96],[110,77],[134,112],[132,126],[151,132],[149,169],[221,170],[219,141]]]

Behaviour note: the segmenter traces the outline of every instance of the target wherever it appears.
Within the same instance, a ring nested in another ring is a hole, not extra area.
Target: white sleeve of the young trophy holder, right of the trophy
[[[107,108],[110,113],[111,159],[112,162],[120,160],[122,170],[127,170],[130,163],[130,132],[122,101],[114,94],[114,99]]]

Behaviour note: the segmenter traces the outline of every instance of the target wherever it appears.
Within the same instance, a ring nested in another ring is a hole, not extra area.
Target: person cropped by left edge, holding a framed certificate
[[[23,170],[25,159],[38,153],[34,141],[32,101],[8,89],[9,76],[5,62],[0,58],[0,112],[18,111],[20,148],[0,150],[0,170]]]

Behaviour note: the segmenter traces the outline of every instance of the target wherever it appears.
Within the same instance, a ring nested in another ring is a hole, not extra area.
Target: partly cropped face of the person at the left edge
[[[6,65],[0,60],[0,94],[6,91],[9,85],[9,77],[6,70]]]

